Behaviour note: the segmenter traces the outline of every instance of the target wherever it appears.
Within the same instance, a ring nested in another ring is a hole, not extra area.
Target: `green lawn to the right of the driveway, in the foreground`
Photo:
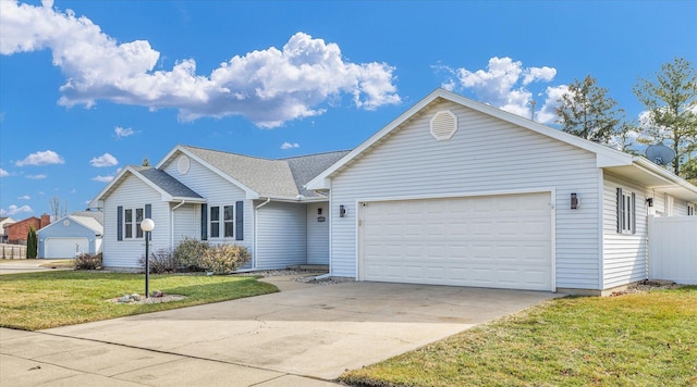
[[[350,371],[362,386],[697,386],[697,287],[563,298]]]

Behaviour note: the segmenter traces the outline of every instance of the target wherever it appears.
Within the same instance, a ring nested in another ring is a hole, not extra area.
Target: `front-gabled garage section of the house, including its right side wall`
[[[330,197],[332,276],[579,294],[647,278],[648,214],[697,202],[645,158],[442,89],[307,188]]]

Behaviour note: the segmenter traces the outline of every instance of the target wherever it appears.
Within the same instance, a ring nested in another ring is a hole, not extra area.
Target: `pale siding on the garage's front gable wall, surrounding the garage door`
[[[437,141],[442,109],[458,130]],[[452,102],[435,102],[332,177],[331,274],[356,276],[356,201],[395,197],[555,191],[557,287],[597,289],[599,185],[595,154]],[[570,209],[570,194],[580,200]],[[339,205],[346,217],[339,217]]]

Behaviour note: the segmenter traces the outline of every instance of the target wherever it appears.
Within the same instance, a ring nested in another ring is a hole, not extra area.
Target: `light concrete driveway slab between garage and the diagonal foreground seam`
[[[344,283],[44,333],[331,380],[345,370],[386,360],[558,296]],[[70,362],[64,354],[60,357]],[[180,372],[184,377],[186,370]],[[157,380],[152,378],[176,379],[172,371],[160,376],[145,372],[143,377],[154,385]]]

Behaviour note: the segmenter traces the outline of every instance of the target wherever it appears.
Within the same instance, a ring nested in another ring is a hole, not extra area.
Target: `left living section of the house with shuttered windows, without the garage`
[[[248,247],[245,269],[329,264],[329,199],[303,186],[346,153],[267,160],[176,146],[155,167],[129,165],[90,203],[103,210],[103,264],[139,267],[146,217],[152,251],[188,237]]]

